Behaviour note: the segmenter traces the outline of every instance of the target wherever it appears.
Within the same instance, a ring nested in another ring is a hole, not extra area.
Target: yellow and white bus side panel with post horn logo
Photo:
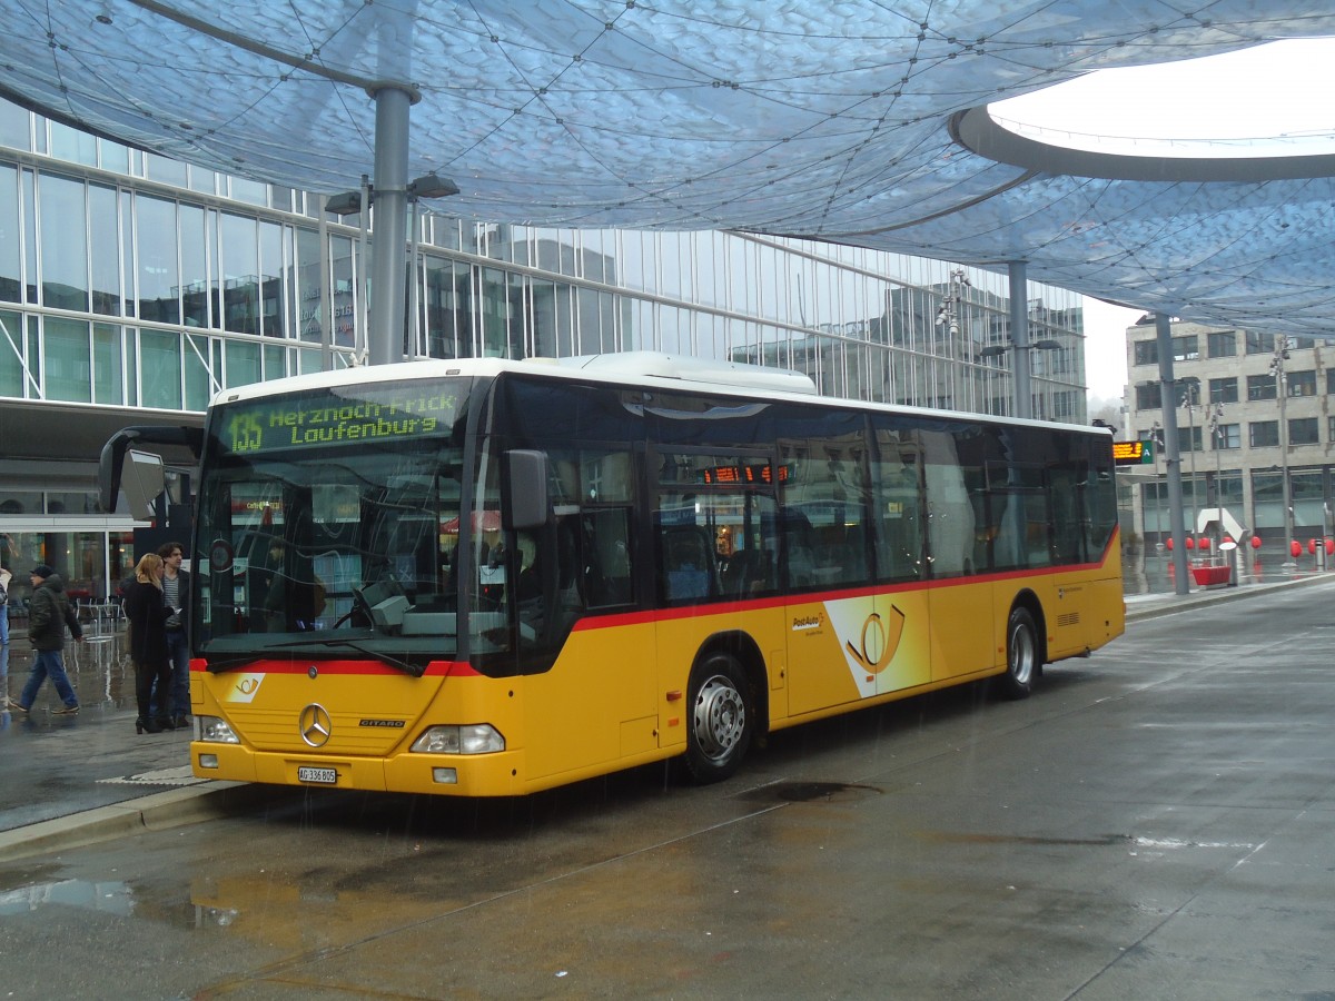
[[[896,591],[789,606],[793,715],[925,685],[932,677],[928,601]]]

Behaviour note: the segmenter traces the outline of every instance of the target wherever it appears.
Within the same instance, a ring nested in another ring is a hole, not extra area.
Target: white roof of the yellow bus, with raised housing
[[[784,399],[830,407],[856,407],[888,414],[912,414],[917,416],[940,416],[953,420],[983,420],[996,424],[1021,424],[1031,427],[1061,427],[1071,431],[1101,434],[1112,436],[1112,430],[1087,424],[1069,424],[1055,420],[1004,418],[975,411],[939,410],[934,407],[910,407],[893,403],[870,403],[868,400],[821,396],[810,376],[802,372],[772,368],[768,366],[745,364],[740,362],[712,362],[658,351],[625,351],[601,355],[579,355],[574,358],[530,358],[509,360],[503,358],[457,358],[419,359],[392,364],[359,366],[327,372],[308,372],[286,379],[236,386],[218,392],[211,407],[238,400],[262,399],[287,392],[306,390],[335,388],[339,386],[364,386],[379,382],[400,382],[411,379],[482,378],[494,379],[506,372],[526,375],[546,375],[558,379],[598,382],[614,386],[642,386],[645,388],[686,390],[696,388],[726,396],[754,400]]]

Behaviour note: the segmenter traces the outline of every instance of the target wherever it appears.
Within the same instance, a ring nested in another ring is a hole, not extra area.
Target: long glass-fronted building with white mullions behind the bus
[[[127,570],[132,522],[99,510],[96,451],[61,451],[63,427],[198,423],[219,390],[364,359],[374,204],[323,204],[0,101],[0,563],[20,593],[29,562],[93,598]],[[826,395],[1015,411],[1004,275],[410,208],[405,358],[669,351],[797,368]],[[1084,423],[1081,298],[1027,295],[1033,414]]]

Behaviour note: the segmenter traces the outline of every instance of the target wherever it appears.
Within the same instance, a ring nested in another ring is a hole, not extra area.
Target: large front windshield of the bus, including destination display
[[[466,390],[379,383],[215,408],[194,554],[211,669],[372,657],[421,674],[457,653]]]

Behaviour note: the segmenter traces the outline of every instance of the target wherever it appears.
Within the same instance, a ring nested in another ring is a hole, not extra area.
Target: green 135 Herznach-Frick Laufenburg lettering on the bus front
[[[453,392],[395,395],[387,400],[263,400],[234,408],[223,438],[239,454],[417,438],[447,427],[457,406]]]

